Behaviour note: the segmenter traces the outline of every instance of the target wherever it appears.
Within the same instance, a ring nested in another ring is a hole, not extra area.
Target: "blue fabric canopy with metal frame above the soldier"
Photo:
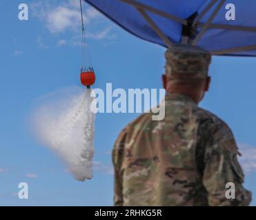
[[[188,43],[215,55],[256,56],[255,0],[85,1],[128,32],[164,47]]]

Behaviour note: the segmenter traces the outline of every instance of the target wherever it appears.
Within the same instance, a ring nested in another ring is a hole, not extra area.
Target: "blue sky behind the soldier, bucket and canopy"
[[[28,3],[29,20],[19,21],[18,5]],[[95,124],[92,180],[79,182],[52,151],[39,144],[29,119],[39,97],[79,86],[81,64],[79,8],[70,1],[0,3],[0,206],[112,205],[110,151],[121,129],[136,113],[101,113]],[[84,4],[95,88],[161,88],[163,47],[128,34]],[[67,20],[58,19],[68,16]],[[70,22],[71,21],[71,22]],[[210,91],[201,107],[224,119],[244,153],[245,186],[256,205],[256,59],[214,57]],[[18,184],[29,185],[29,199],[18,199]]]

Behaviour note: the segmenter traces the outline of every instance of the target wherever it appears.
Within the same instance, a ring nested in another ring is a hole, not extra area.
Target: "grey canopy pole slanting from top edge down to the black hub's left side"
[[[149,12],[159,14],[162,17],[166,17],[168,19],[171,19],[173,21],[176,21],[178,23],[182,23],[182,24],[186,25],[186,20],[185,19],[180,19],[179,17],[176,17],[173,14],[163,12],[163,11],[158,10],[156,8],[152,8],[149,5],[145,5],[144,3],[140,3],[140,2],[135,1],[135,0],[119,0],[119,1],[124,1],[125,3],[128,3],[130,5],[135,6],[135,8],[140,8],[142,10],[147,10]]]

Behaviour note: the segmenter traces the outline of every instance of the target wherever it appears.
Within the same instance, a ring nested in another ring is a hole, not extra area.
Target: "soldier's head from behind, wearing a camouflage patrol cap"
[[[210,53],[192,45],[174,45],[166,51],[165,56],[164,89],[190,96],[199,103],[210,85]]]

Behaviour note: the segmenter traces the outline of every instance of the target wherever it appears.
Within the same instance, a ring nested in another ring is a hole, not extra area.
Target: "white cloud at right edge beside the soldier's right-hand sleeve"
[[[256,171],[256,147],[249,144],[238,144],[239,152],[242,153],[242,157],[239,158],[239,162],[242,165],[245,173],[252,173]]]

